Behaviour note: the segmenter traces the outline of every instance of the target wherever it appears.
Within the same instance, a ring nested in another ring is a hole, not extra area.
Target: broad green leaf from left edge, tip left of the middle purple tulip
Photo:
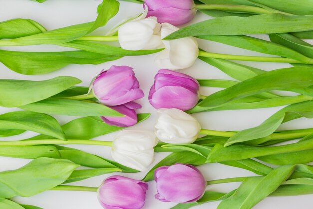
[[[75,77],[59,76],[45,81],[0,80],[0,106],[18,107],[60,93],[80,83]]]

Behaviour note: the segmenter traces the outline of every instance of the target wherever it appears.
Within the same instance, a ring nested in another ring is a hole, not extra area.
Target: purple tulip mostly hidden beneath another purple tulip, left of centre
[[[101,119],[108,125],[114,125],[119,127],[129,127],[137,124],[138,117],[135,109],[140,109],[141,105],[135,102],[128,102],[123,105],[108,106],[109,108],[116,110],[117,112],[125,115],[123,117],[101,117]]]

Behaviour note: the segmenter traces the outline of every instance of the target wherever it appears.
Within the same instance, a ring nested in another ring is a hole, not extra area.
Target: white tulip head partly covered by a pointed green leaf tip
[[[177,31],[179,28],[162,23],[161,38]],[[170,41],[163,40],[165,49],[156,56],[156,65],[169,70],[179,70],[192,66],[199,55],[198,43],[194,37],[185,37]]]

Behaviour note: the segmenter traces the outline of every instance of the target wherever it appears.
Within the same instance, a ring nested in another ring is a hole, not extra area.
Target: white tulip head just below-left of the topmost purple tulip
[[[118,29],[119,44],[127,50],[161,48],[160,30],[156,17],[127,22]]]

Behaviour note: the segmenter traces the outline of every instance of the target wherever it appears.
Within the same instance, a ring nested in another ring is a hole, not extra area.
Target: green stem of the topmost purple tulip
[[[209,4],[209,5],[195,5],[195,8],[198,10],[224,10],[224,11],[233,11],[233,12],[248,12],[248,13],[258,13],[258,14],[270,14],[272,12],[260,8],[253,7],[248,5],[228,5],[228,4]]]

